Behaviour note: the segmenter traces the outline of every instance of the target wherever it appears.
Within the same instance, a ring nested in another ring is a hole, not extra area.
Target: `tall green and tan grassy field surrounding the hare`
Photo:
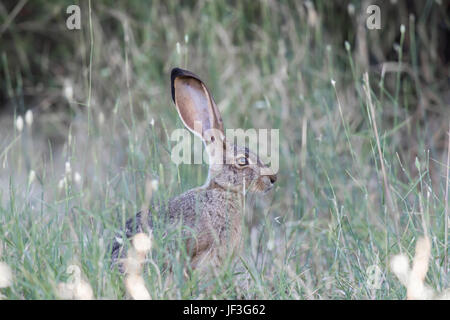
[[[176,237],[154,234],[152,299],[404,299],[390,260],[423,235],[426,282],[448,288],[448,5],[385,2],[368,30],[362,3],[83,0],[79,31],[70,1],[0,5],[1,296],[57,298],[75,265],[95,298],[130,298],[114,235],[149,182],[166,201],[207,176],[170,160],[175,66],[204,79],[226,127],[279,129],[280,171],[215,276],[186,278]]]

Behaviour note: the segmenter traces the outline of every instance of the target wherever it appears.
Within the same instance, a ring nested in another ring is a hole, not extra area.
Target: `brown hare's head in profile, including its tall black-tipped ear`
[[[225,139],[222,117],[208,88],[198,76],[175,68],[172,99],[186,128],[199,136],[209,155],[210,186],[231,192],[267,192],[277,177],[248,148]]]

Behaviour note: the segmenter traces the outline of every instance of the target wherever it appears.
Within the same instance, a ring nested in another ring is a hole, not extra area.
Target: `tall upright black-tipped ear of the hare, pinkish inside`
[[[171,73],[172,99],[184,125],[207,144],[214,141],[210,129],[224,139],[222,117],[208,88],[190,71],[174,68]],[[216,137],[217,138],[217,137]]]

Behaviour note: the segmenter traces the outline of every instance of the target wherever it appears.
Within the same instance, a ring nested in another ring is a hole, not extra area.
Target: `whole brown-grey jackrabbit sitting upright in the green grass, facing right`
[[[243,204],[247,192],[267,192],[277,180],[257,155],[225,139],[222,118],[208,88],[190,71],[174,68],[172,99],[187,129],[199,136],[209,155],[206,183],[172,198],[152,211],[171,225],[182,224],[192,269],[205,262],[220,263],[239,249]],[[264,169],[264,170],[263,170]],[[264,175],[263,175],[264,173]],[[139,212],[126,223],[126,236],[152,229],[152,214]],[[112,247],[113,264],[125,257],[124,241],[117,236]]]

